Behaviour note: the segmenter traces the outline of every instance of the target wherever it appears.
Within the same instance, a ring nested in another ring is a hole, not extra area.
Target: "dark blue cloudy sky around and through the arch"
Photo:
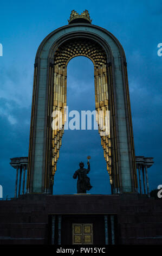
[[[133,117],[135,154],[154,157],[148,169],[150,188],[162,183],[161,67],[162,3],[131,1],[1,1],[0,43],[0,184],[4,198],[14,196],[15,169],[10,158],[27,156],[34,59],[46,35],[67,25],[71,10],[89,10],[94,25],[106,28],[124,47]],[[68,64],[69,109],[94,109],[93,64],[77,57]],[[90,155],[90,193],[110,193],[98,131],[66,131],[55,175],[54,193],[75,193],[72,175]]]

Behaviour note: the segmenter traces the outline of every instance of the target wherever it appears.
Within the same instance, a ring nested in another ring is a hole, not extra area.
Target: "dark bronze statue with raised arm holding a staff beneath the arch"
[[[76,172],[73,175],[73,178],[77,179],[77,194],[86,194],[86,190],[90,190],[90,188],[92,188],[92,186],[90,185],[90,179],[87,176],[87,173],[89,173],[90,171],[90,163],[89,163],[89,159],[88,159],[88,169],[83,168],[84,167],[84,163],[80,162],[79,166],[80,169],[76,170]]]

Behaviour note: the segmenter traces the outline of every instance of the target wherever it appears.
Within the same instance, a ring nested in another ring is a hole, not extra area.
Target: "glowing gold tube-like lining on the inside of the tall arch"
[[[96,121],[103,123],[110,122],[109,116],[106,114],[109,110],[108,98],[108,77],[107,77],[107,56],[103,48],[96,42],[90,39],[73,39],[63,43],[57,48],[54,54],[54,72],[53,79],[53,111],[62,112],[62,130],[59,128],[51,132],[51,173],[50,180],[53,183],[53,178],[56,172],[56,164],[59,159],[59,150],[61,147],[61,139],[64,132],[64,124],[66,115],[64,108],[67,105],[67,64],[70,59],[76,56],[85,56],[92,60],[94,64],[94,84],[95,84],[95,108]],[[99,114],[102,113],[102,114]],[[54,122],[53,118],[53,122]],[[111,152],[111,136],[110,134],[103,136],[102,131],[101,145],[104,150],[104,157],[107,163],[107,170],[112,184],[112,152]]]

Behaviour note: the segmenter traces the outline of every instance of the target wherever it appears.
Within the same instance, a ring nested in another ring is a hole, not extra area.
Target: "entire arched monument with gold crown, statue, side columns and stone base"
[[[72,177],[78,179],[77,194],[55,195],[53,191],[66,123],[67,65],[76,56],[94,64],[96,121],[111,195],[86,194],[92,187],[87,175],[90,157],[88,168],[80,163]],[[1,244],[162,243],[161,201],[150,198],[148,188],[147,168],[153,158],[134,153],[125,52],[113,34],[92,25],[87,10],[82,14],[73,10],[68,25],[51,32],[38,47],[29,155],[11,159],[10,164],[16,169],[15,197],[0,202]]]

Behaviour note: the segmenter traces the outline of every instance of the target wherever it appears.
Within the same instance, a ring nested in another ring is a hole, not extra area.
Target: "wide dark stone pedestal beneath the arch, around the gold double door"
[[[72,244],[72,224],[93,225],[93,244],[162,243],[162,200],[146,195],[26,194],[0,202],[0,244]]]

